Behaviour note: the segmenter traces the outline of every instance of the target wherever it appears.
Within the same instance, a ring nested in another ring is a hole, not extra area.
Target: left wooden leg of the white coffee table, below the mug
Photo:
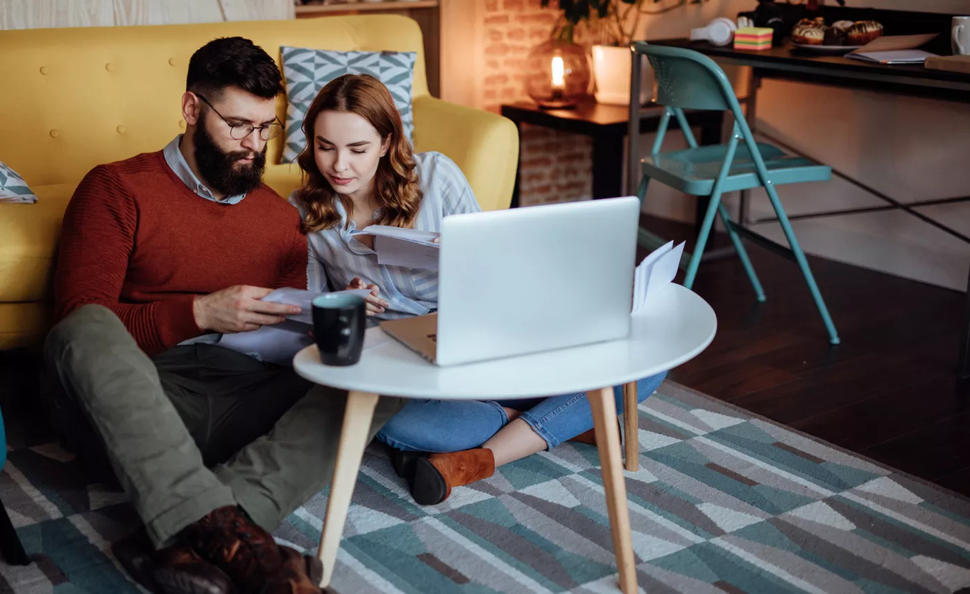
[[[371,427],[377,398],[377,394],[366,391],[351,391],[347,394],[337,462],[334,464],[334,479],[330,484],[330,497],[327,499],[327,512],[323,516],[323,531],[320,534],[320,548],[317,551],[317,556],[323,563],[320,587],[329,584],[330,578],[334,575],[340,537],[343,535],[343,524],[347,519],[354,485],[357,484],[357,472],[364,457],[364,448],[367,447],[368,429]]]

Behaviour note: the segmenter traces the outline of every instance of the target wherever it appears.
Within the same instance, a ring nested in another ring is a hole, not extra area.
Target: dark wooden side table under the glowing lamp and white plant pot
[[[641,110],[640,134],[657,132],[661,107],[646,107]],[[542,109],[531,102],[520,102],[501,106],[501,114],[515,122],[522,138],[522,124],[532,124],[582,134],[593,138],[593,198],[615,198],[632,193],[624,188],[623,163],[625,139],[630,109],[627,106],[607,106],[590,98],[574,109]],[[688,111],[687,121],[700,128],[698,142],[701,144],[721,143],[721,130],[724,113],[721,111]],[[670,123],[671,129],[676,122]],[[522,151],[519,151],[521,164]],[[521,165],[520,165],[521,169]],[[515,190],[512,193],[512,206],[519,205],[519,174],[515,176]],[[698,217],[704,211],[697,209]]]

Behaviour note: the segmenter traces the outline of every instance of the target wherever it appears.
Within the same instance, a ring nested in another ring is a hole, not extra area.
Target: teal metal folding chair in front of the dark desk
[[[644,42],[636,42],[630,48],[633,51],[630,97],[639,97],[640,54],[645,54],[650,60],[657,79],[655,101],[664,108],[657,131],[657,140],[654,141],[650,156],[640,162],[643,172],[636,191],[637,198],[643,201],[652,179],[685,194],[710,197],[700,233],[697,235],[697,245],[687,266],[684,286],[690,289],[694,285],[697,266],[700,265],[700,257],[704,252],[707,237],[711,233],[714,217],[720,215],[758,300],[764,300],[764,290],[741,242],[742,235],[757,240],[761,244],[767,244],[773,248],[773,251],[791,258],[798,264],[819,308],[819,313],[822,314],[825,329],[828,330],[829,342],[839,344],[838,332],[828,315],[828,309],[825,307],[815,277],[812,276],[812,270],[798,245],[792,225],[775,189],[782,184],[824,181],[831,177],[831,169],[804,157],[788,155],[767,142],[756,142],[734,96],[734,89],[724,71],[714,60],[681,47],[650,46]],[[638,102],[630,105],[636,106]],[[684,116],[684,109],[730,111],[734,116],[730,141],[727,144],[698,146]],[[632,112],[633,108],[630,110]],[[666,135],[671,117],[676,118],[690,148],[661,152],[663,137]],[[740,145],[742,141],[743,145]],[[788,238],[790,248],[740,227],[731,220],[727,208],[721,202],[725,192],[757,187],[763,187],[767,192],[778,222],[781,223],[782,230]],[[656,235],[641,229],[640,240],[647,245],[656,245],[659,239]]]

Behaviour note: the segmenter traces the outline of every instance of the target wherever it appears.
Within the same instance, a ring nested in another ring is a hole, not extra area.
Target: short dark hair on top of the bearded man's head
[[[215,101],[228,86],[273,99],[283,92],[283,79],[270,54],[242,37],[222,37],[196,49],[188,61],[185,90],[211,95]]]

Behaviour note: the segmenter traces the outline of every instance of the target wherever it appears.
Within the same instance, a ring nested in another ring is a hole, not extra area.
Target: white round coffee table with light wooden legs
[[[372,348],[366,345],[356,365],[330,367],[320,362],[315,345],[307,347],[293,359],[296,372],[311,382],[350,392],[320,537],[318,555],[324,568],[320,585],[328,584],[334,571],[377,394],[497,400],[587,391],[620,587],[627,593],[636,592],[620,431],[616,422],[606,422],[617,415],[612,387],[625,387],[626,433],[633,436],[627,439],[627,467],[635,470],[636,393],[630,386],[693,359],[711,343],[716,330],[717,317],[710,305],[692,291],[671,284],[633,318],[627,338],[558,351],[438,367],[388,338]]]

